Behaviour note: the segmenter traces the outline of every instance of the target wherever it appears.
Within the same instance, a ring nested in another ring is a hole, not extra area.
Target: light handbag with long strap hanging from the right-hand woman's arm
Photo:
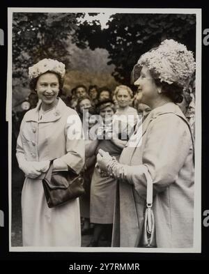
[[[155,236],[155,216],[153,213],[153,180],[146,170],[147,190],[146,190],[146,207],[144,212],[144,221],[139,228],[139,234],[135,247],[137,248],[157,248]]]

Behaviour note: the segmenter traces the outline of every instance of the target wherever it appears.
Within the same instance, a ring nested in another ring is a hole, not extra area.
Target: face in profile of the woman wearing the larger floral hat
[[[150,71],[146,66],[141,69],[141,75],[134,85],[138,87],[137,89],[137,100],[141,103],[152,107],[153,102],[159,97],[157,93],[157,86],[155,80],[150,75]]]

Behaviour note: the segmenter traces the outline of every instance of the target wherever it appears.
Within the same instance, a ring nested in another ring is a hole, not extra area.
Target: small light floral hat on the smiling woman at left
[[[29,78],[33,79],[40,75],[47,73],[57,73],[63,79],[65,75],[65,65],[57,60],[53,59],[42,59],[35,65],[29,68]]]

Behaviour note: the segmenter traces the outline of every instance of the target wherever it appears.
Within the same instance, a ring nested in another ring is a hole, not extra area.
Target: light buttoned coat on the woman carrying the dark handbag
[[[54,170],[73,169],[77,174],[84,166],[82,123],[74,109],[59,98],[55,109],[39,117],[41,102],[26,112],[17,138],[17,160],[54,160]],[[26,178],[22,190],[23,245],[79,246],[79,200],[48,208],[38,178]]]

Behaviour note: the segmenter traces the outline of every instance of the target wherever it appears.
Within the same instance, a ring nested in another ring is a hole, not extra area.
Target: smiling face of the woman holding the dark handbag
[[[56,103],[59,93],[59,79],[55,73],[40,75],[36,83],[38,98],[42,101],[43,109],[50,109]]]

